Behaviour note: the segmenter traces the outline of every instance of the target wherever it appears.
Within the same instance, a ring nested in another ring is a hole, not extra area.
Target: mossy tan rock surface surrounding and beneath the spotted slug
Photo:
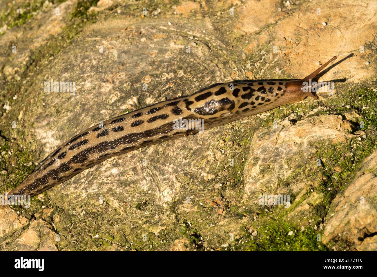
[[[0,207],[0,249],[377,250],[376,11],[362,0],[1,2],[1,193],[100,121],[343,60],[318,101],[108,159],[29,209]],[[75,93],[46,92],[51,80]],[[265,193],[289,205],[260,203]]]

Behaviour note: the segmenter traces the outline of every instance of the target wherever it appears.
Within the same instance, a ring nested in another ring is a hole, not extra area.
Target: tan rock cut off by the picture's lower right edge
[[[356,173],[354,181],[331,203],[322,242],[341,237],[358,250],[377,250],[377,151]],[[370,237],[369,237],[370,236]]]

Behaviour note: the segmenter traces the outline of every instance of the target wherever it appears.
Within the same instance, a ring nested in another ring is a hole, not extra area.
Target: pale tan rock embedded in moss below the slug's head
[[[346,142],[354,137],[349,131],[351,124],[341,116],[321,115],[299,121],[296,125],[261,129],[251,140],[250,156],[245,164],[246,202],[258,202],[261,191],[268,194],[300,195],[310,183],[303,179],[305,174],[316,172],[316,159],[310,158],[316,153],[316,144]],[[300,169],[300,174],[295,172]],[[295,176],[289,187],[279,185]],[[297,199],[298,200],[298,199]]]

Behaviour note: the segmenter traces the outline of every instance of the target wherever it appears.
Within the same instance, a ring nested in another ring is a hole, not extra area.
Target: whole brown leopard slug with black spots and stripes
[[[204,129],[209,129],[307,96],[318,99],[311,87],[303,89],[303,83],[316,77],[335,59],[331,58],[301,80],[217,83],[190,96],[162,101],[94,125],[60,145],[9,194],[34,196],[111,157],[198,133],[198,129],[190,126],[196,119],[204,120]],[[177,129],[174,124],[179,119],[191,121],[186,128]]]

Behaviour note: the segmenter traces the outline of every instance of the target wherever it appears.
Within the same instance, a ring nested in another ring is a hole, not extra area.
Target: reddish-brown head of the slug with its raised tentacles
[[[336,56],[332,57],[325,64],[316,69],[313,73],[301,80],[294,80],[287,82],[287,92],[285,93],[289,103],[299,102],[308,96],[318,99],[316,95],[317,82],[314,81],[316,76],[326,67],[329,63],[336,60]]]

